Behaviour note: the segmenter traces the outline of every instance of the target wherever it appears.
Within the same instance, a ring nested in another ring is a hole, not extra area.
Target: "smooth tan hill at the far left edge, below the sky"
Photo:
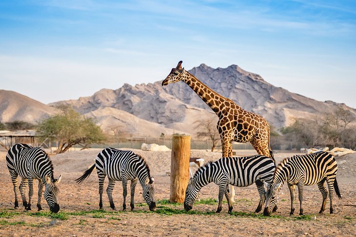
[[[56,109],[15,91],[0,90],[0,121],[36,123],[55,113]]]

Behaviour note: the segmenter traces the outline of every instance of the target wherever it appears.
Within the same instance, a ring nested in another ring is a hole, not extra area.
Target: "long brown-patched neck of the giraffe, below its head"
[[[217,92],[210,89],[207,85],[199,81],[195,76],[185,71],[184,81],[198,96],[207,104],[217,115],[226,106],[224,102],[234,103]],[[235,104],[235,103],[234,103]]]

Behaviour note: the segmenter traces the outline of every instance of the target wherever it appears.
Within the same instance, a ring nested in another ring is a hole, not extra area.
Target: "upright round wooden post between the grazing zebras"
[[[183,203],[189,182],[190,136],[172,138],[171,154],[171,202]]]

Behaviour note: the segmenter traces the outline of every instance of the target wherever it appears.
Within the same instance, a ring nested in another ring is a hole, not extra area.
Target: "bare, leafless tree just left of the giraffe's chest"
[[[219,145],[221,139],[217,129],[217,118],[203,118],[194,122],[194,125],[199,130],[197,137],[209,138],[212,141],[213,146],[211,151],[214,151]]]

